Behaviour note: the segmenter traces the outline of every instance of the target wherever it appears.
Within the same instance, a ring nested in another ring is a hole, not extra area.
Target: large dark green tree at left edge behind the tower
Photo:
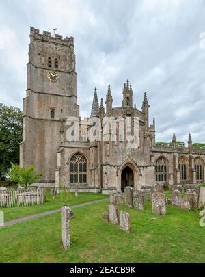
[[[22,122],[20,109],[0,103],[0,179],[5,177],[12,163],[19,163]]]

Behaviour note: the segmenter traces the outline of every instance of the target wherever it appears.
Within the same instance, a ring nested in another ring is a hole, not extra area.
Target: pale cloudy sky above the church
[[[0,103],[22,108],[29,26],[73,36],[77,94],[90,114],[94,87],[114,106],[129,79],[141,109],[148,93],[156,140],[205,142],[204,0],[0,0]]]

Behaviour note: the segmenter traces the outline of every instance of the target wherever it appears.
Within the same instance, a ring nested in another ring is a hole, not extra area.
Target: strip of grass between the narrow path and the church
[[[50,190],[48,189],[47,201],[41,205],[33,205],[29,207],[14,207],[14,208],[2,208],[1,211],[4,212],[4,220],[13,220],[19,217],[25,217],[27,215],[33,215],[35,213],[42,213],[44,211],[50,211],[54,209],[59,209],[63,205],[77,205],[85,202],[90,202],[98,199],[107,198],[109,196],[105,196],[102,194],[94,194],[92,192],[79,192],[79,197],[76,198],[74,193],[62,193],[57,194],[55,200],[51,198]]]

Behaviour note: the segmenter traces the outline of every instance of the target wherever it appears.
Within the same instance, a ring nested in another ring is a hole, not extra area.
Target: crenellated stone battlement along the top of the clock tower
[[[74,38],[70,36],[66,36],[66,38],[63,38],[63,36],[55,34],[55,36],[51,36],[51,32],[49,31],[43,31],[43,34],[40,34],[39,29],[35,29],[34,27],[30,27],[30,38],[33,38],[33,40],[43,40],[45,42],[51,42],[55,44],[64,44],[67,46],[74,46]]]

